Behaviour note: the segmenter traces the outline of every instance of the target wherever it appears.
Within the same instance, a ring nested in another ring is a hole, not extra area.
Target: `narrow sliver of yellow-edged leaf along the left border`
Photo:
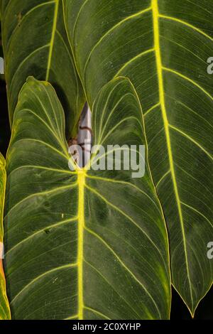
[[[3,211],[4,195],[6,186],[5,160],[0,153],[0,320],[8,320],[10,315],[9,302],[6,297],[6,282],[4,278],[3,257],[4,257],[4,230],[3,230]]]

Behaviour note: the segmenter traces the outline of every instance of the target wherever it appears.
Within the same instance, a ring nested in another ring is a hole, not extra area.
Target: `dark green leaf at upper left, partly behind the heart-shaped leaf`
[[[63,23],[61,0],[2,0],[2,31],[9,117],[29,75],[55,87],[67,117],[67,137],[75,136],[84,93]]]

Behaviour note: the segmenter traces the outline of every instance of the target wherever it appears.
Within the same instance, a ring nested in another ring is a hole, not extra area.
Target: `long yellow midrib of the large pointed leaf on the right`
[[[188,259],[187,259],[187,247],[186,247],[186,239],[185,239],[185,227],[182,217],[182,208],[180,203],[180,197],[178,192],[178,184],[176,181],[175,176],[175,168],[174,168],[174,161],[173,161],[173,153],[172,153],[172,146],[170,141],[170,130],[169,130],[169,123],[168,123],[168,117],[165,107],[165,93],[164,93],[164,83],[163,83],[163,65],[161,60],[161,53],[160,53],[160,32],[159,32],[159,11],[158,11],[158,0],[152,0],[152,9],[153,9],[153,31],[154,31],[154,44],[155,44],[155,58],[156,58],[156,65],[157,65],[157,72],[158,72],[158,86],[159,86],[159,97],[160,97],[160,105],[163,115],[163,124],[165,129],[165,137],[166,142],[168,146],[168,158],[170,163],[170,173],[173,180],[173,186],[175,190],[175,198],[178,205],[178,213],[180,216],[180,225],[182,230],[182,239],[183,239],[183,245],[185,249],[185,260],[186,260],[186,269],[187,269],[187,276],[188,281],[190,285],[190,296],[193,302],[192,297],[192,286],[190,282],[190,270],[188,266]]]

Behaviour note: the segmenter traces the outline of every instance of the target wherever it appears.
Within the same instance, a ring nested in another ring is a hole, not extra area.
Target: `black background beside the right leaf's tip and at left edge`
[[[0,31],[1,34],[1,31]],[[0,35],[1,37],[1,35]],[[0,38],[0,57],[3,57]],[[0,151],[6,156],[6,150],[9,145],[11,129],[9,125],[9,116],[6,99],[6,83],[4,76],[0,75]],[[172,320],[190,320],[190,312],[182,302],[178,293],[173,289],[173,301],[171,310]],[[195,312],[197,320],[213,320],[213,288],[207,293],[207,296],[200,302]]]

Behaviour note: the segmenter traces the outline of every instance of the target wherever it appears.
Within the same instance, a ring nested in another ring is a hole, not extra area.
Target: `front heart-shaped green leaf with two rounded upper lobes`
[[[104,87],[92,122],[94,144],[146,144],[129,80]],[[29,78],[6,158],[6,281],[13,318],[167,319],[168,236],[147,152],[145,176],[132,178],[131,171],[94,171],[95,161],[104,158],[95,153],[90,169],[71,171],[67,151],[53,87]]]

